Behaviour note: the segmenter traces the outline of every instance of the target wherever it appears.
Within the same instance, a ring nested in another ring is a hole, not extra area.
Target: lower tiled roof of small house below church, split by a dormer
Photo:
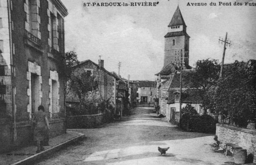
[[[186,89],[182,92],[182,103],[200,104],[202,99],[200,97],[200,89]],[[174,104],[174,92],[177,90],[170,90],[168,96],[168,104]]]

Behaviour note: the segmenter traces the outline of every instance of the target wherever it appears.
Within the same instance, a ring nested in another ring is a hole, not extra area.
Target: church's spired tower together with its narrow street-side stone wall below
[[[168,33],[164,36],[164,64],[157,76],[157,97],[159,98],[160,114],[166,116],[168,110],[168,89],[175,73],[189,66],[189,35],[179,6],[168,25]]]

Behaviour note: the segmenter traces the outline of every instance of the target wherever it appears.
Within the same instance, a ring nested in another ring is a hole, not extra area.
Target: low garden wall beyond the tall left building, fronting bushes
[[[96,115],[67,116],[68,129],[96,128],[113,120],[113,115],[100,113]]]

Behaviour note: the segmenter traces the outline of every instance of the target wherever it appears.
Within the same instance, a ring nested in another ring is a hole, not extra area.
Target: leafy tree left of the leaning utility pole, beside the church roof
[[[211,106],[209,105],[209,96],[207,92],[217,83],[220,73],[220,64],[215,59],[198,60],[193,72],[187,75],[187,84],[191,88],[197,88],[197,92],[203,102],[204,110],[206,111]]]

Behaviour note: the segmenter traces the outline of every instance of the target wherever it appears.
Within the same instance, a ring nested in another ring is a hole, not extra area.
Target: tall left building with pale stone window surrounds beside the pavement
[[[33,141],[39,105],[50,137],[65,133],[64,17],[60,0],[0,0],[0,152]]]

